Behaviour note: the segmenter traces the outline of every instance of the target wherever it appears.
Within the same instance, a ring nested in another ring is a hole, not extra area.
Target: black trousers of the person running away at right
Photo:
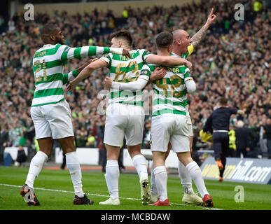
[[[226,164],[226,156],[229,148],[229,134],[228,132],[214,132],[212,136],[214,158],[215,160],[221,160],[223,169],[219,170],[219,176],[223,177]]]

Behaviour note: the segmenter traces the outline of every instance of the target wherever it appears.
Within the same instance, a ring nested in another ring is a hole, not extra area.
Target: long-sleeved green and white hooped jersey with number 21
[[[68,59],[93,56],[108,53],[110,48],[83,46],[70,48],[67,45],[43,45],[35,52],[33,72],[36,90],[32,106],[56,104],[64,100],[63,82],[67,83],[68,76],[77,76],[77,71],[63,74],[64,64]]]

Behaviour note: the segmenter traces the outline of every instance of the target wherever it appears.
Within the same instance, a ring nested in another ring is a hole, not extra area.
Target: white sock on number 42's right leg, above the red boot
[[[200,167],[197,165],[197,162],[193,161],[188,163],[188,165],[186,165],[186,169],[188,171],[188,174],[190,174],[193,181],[195,182],[195,185],[197,186],[197,190],[199,191],[200,195],[202,197],[204,197],[204,195],[206,194],[209,195],[202,178],[202,172],[200,170]]]

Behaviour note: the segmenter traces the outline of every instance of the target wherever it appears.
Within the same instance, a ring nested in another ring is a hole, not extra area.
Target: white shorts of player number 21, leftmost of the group
[[[63,139],[74,136],[71,109],[66,100],[57,104],[33,106],[31,118],[35,126],[36,139],[48,137]]]

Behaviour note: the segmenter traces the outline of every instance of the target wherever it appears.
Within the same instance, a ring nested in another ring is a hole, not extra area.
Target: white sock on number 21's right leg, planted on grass
[[[74,185],[74,192],[78,197],[84,197],[82,190],[82,172],[76,152],[66,154],[66,164],[71,174],[71,181]]]

